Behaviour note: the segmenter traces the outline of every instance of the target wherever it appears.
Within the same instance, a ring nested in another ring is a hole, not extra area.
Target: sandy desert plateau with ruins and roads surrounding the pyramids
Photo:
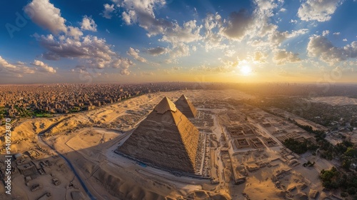
[[[164,96],[176,101],[181,94],[196,106],[193,124],[206,135],[201,178],[178,176],[114,152]],[[17,121],[11,151],[21,155],[13,161],[13,196],[29,200],[48,193],[54,200],[329,196],[318,174],[332,164],[311,154],[293,154],[281,144],[286,138],[311,136],[237,101],[251,97],[233,90],[162,92],[93,111]],[[303,167],[306,161],[316,164]],[[0,199],[7,197],[1,191]]]

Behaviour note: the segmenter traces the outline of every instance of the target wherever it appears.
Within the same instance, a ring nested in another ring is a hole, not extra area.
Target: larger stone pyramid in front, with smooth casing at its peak
[[[118,151],[165,169],[195,173],[198,129],[164,97]]]

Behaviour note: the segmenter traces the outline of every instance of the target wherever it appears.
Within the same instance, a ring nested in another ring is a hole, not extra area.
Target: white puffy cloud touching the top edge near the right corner
[[[341,0],[307,0],[298,9],[298,17],[303,21],[328,21]]]

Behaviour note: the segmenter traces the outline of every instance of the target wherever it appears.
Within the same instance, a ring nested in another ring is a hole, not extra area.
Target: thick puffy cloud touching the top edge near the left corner
[[[49,0],[33,0],[24,7],[31,20],[43,29],[49,29],[52,34],[66,33],[64,24],[66,20],[61,16],[61,10],[57,9]]]

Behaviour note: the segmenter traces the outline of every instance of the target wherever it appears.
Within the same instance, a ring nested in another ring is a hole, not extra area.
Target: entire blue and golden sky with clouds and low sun
[[[357,80],[356,0],[0,6],[0,84]]]

